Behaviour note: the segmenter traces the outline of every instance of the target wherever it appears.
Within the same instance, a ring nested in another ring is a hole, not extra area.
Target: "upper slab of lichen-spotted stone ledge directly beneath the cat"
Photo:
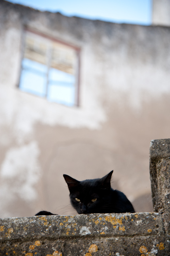
[[[76,216],[33,216],[0,220],[0,240],[50,237],[162,235],[159,213],[89,214]],[[10,231],[9,231],[10,230]]]

